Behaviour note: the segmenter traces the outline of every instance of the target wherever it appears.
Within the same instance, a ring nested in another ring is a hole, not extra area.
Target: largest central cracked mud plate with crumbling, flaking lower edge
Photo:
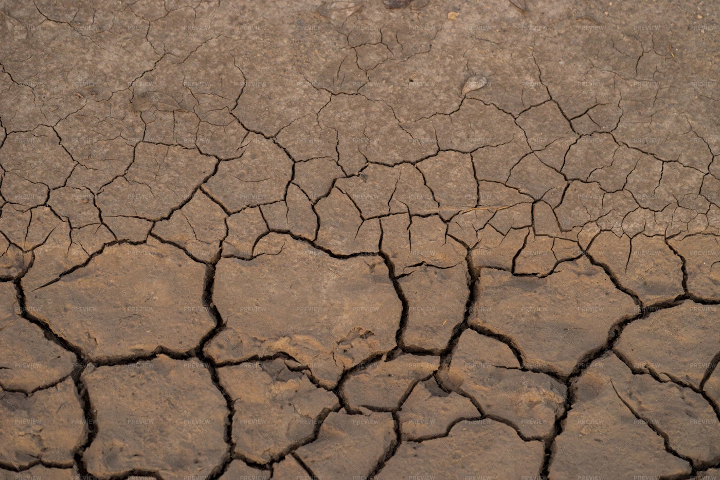
[[[217,264],[213,298],[227,328],[206,346],[215,360],[285,352],[334,386],[344,369],[395,346],[402,306],[382,258],[337,259],[279,234],[255,253]]]

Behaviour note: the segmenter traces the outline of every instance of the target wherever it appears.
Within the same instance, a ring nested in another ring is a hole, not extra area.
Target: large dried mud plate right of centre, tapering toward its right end
[[[583,288],[577,288],[578,282]],[[477,300],[469,324],[512,337],[526,363],[562,375],[602,346],[614,324],[636,314],[632,298],[617,290],[602,268],[582,258],[560,264],[543,278],[482,269],[474,288]]]

